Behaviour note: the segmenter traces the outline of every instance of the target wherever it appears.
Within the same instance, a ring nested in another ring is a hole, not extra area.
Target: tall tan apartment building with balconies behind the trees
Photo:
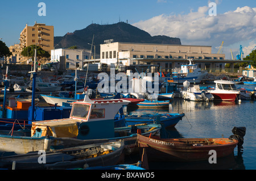
[[[26,27],[20,33],[19,40],[21,50],[30,45],[38,45],[50,53],[54,46],[54,28],[53,26],[36,22],[34,26],[28,26],[26,24]]]

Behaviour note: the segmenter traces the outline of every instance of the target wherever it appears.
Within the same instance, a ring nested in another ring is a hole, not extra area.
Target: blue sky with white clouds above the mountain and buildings
[[[46,16],[38,15],[39,2],[46,3]],[[209,2],[216,3],[217,16],[209,17]],[[226,58],[230,58],[230,49],[236,54],[240,44],[244,52],[256,45],[255,0],[13,0],[1,1],[0,12],[0,38],[8,47],[19,43],[26,23],[46,23],[54,26],[55,36],[64,36],[91,23],[113,24],[119,20],[128,20],[152,36],[179,37],[182,44],[210,45],[213,53],[224,41]],[[248,26],[250,23],[254,25]]]

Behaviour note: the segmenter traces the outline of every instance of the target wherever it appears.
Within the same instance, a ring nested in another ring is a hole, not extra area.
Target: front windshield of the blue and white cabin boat
[[[87,119],[90,110],[90,104],[77,104],[74,103],[72,107],[71,117],[78,117],[81,119]]]

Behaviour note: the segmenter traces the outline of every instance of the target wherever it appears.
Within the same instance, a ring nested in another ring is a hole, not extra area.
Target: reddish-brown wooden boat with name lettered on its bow
[[[146,148],[148,161],[203,161],[209,159],[210,150],[217,158],[233,153],[238,141],[229,138],[177,138],[154,139],[138,134],[139,148]]]

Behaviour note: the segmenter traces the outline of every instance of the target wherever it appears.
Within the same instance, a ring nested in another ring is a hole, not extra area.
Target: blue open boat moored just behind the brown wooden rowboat
[[[175,127],[177,123],[185,116],[184,113],[162,113],[162,114],[146,114],[146,115],[129,115],[125,117],[127,125],[143,124],[143,123],[159,123],[163,128]]]

